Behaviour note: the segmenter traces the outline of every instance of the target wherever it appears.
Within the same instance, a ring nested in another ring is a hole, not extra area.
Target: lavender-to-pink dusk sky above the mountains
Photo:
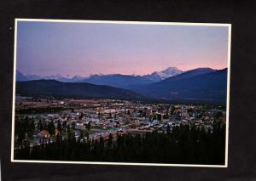
[[[228,27],[18,21],[16,50],[17,69],[40,76],[224,69]]]

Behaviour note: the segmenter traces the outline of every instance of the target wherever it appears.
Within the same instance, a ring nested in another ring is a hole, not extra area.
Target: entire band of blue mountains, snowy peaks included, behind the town
[[[225,103],[227,90],[227,69],[198,68],[179,71],[175,67],[170,67],[165,71],[155,71],[145,76],[56,75],[37,81],[28,80],[40,79],[38,76],[24,76],[21,72],[17,72],[16,76],[17,93],[26,95]]]

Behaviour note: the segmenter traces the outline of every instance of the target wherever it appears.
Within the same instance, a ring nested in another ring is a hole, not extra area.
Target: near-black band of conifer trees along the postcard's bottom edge
[[[212,130],[181,125],[172,132],[143,135],[110,135],[108,140],[87,142],[74,136],[55,143],[44,142],[15,150],[15,159],[49,161],[112,161],[179,164],[224,164],[225,125],[215,123]]]

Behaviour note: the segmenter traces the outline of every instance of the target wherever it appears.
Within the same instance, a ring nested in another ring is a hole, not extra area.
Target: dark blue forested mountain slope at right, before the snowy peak
[[[131,90],[154,99],[224,103],[227,91],[227,69],[218,71],[208,68],[195,69]]]

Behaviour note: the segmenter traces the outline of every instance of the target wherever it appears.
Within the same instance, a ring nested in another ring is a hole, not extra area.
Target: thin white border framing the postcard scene
[[[16,48],[17,48],[17,24],[18,21],[34,22],[61,22],[61,23],[92,23],[92,24],[126,24],[126,25],[197,25],[197,26],[224,26],[229,28],[228,35],[228,81],[226,99],[226,132],[225,132],[225,161],[224,165],[197,165],[197,164],[162,164],[162,163],[133,163],[133,162],[103,162],[103,161],[32,161],[15,160],[15,82],[16,82]],[[13,104],[12,104],[12,138],[11,138],[11,162],[26,163],[62,163],[62,164],[94,164],[94,165],[123,165],[123,166],[160,166],[160,167],[228,167],[229,150],[229,118],[230,118],[230,50],[231,50],[231,24],[219,23],[189,23],[189,22],[149,22],[149,21],[119,21],[119,20],[50,20],[50,19],[15,19],[15,44],[14,44],[14,78],[13,78]]]

